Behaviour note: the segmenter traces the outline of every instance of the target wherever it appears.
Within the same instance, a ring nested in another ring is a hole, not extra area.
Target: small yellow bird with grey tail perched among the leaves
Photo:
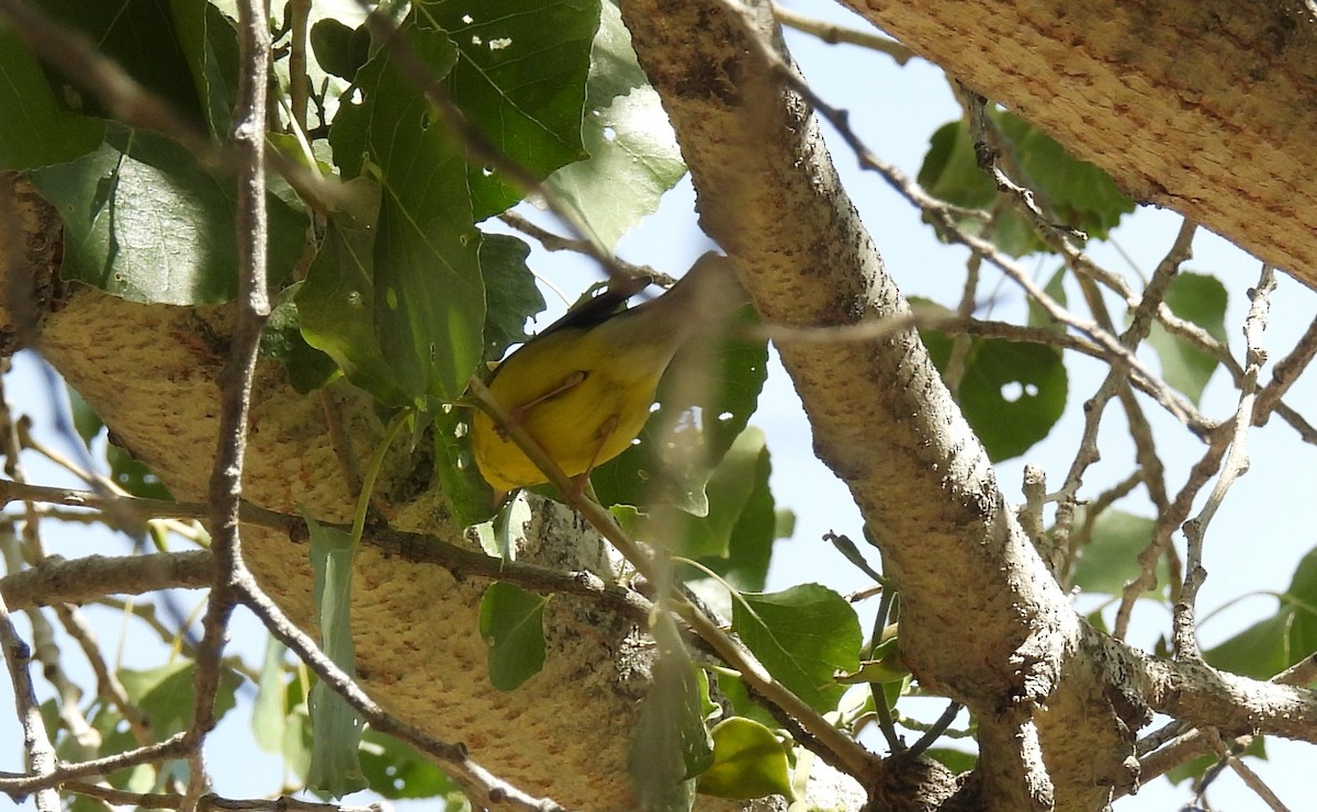
[[[616,311],[637,279],[568,311],[494,371],[490,393],[568,476],[589,474],[640,434],[677,349],[745,300],[731,261],[705,254],[662,296]],[[475,465],[497,491],[548,482],[485,412],[471,420]]]

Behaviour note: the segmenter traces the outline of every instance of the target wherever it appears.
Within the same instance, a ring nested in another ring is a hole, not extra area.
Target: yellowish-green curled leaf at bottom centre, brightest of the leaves
[[[710,730],[714,766],[699,776],[699,792],[715,798],[749,800],[765,795],[792,795],[792,767],[786,749],[772,730],[740,716]]]

